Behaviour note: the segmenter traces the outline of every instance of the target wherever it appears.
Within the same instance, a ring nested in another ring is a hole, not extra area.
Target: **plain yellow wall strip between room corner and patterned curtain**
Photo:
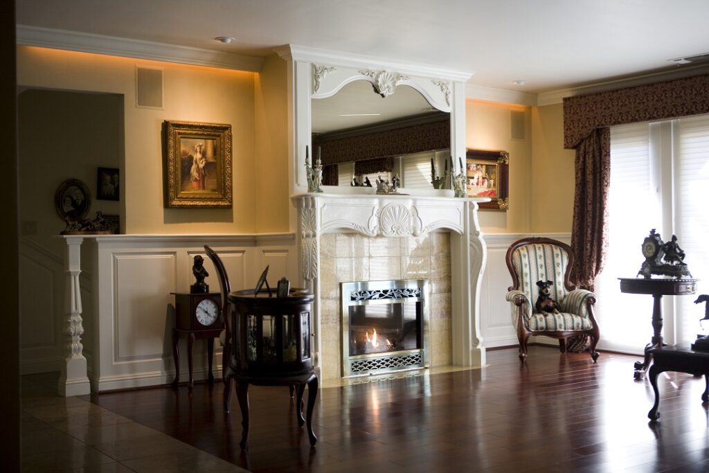
[[[574,219],[574,150],[564,150],[562,104],[532,109],[532,233],[570,233]]]

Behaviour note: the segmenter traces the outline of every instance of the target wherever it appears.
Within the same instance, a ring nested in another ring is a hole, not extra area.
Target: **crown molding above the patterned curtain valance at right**
[[[669,71],[653,72],[651,74],[643,74],[625,79],[596,82],[595,84],[588,84],[581,87],[569,87],[566,89],[540,92],[540,94],[537,94],[537,105],[544,106],[561,104],[564,97],[596,94],[598,92],[625,89],[626,87],[655,84],[657,82],[665,82],[672,79],[683,79],[684,77],[692,77],[699,74],[709,74],[709,65],[679,66],[676,69],[671,69]]]

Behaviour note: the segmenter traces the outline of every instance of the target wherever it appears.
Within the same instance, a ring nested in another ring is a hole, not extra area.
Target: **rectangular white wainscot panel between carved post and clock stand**
[[[172,353],[167,305],[174,297],[177,257],[174,253],[114,255],[116,361],[169,357]]]

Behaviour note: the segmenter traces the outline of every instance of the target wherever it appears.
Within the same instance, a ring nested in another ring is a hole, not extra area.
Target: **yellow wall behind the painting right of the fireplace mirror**
[[[532,138],[530,107],[467,100],[465,113],[466,147],[506,150],[510,153],[510,208],[482,210],[480,225],[485,233],[526,233],[530,230],[530,171]],[[525,112],[525,139],[510,138],[510,111]]]

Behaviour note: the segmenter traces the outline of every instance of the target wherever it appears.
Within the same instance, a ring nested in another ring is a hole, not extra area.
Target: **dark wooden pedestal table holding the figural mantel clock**
[[[647,279],[641,277],[620,277],[620,291],[626,294],[652,295],[652,330],[650,343],[645,346],[642,362],[635,362],[635,379],[642,379],[649,368],[653,348],[665,346],[662,338],[662,296],[686,296],[696,292],[697,279]]]

